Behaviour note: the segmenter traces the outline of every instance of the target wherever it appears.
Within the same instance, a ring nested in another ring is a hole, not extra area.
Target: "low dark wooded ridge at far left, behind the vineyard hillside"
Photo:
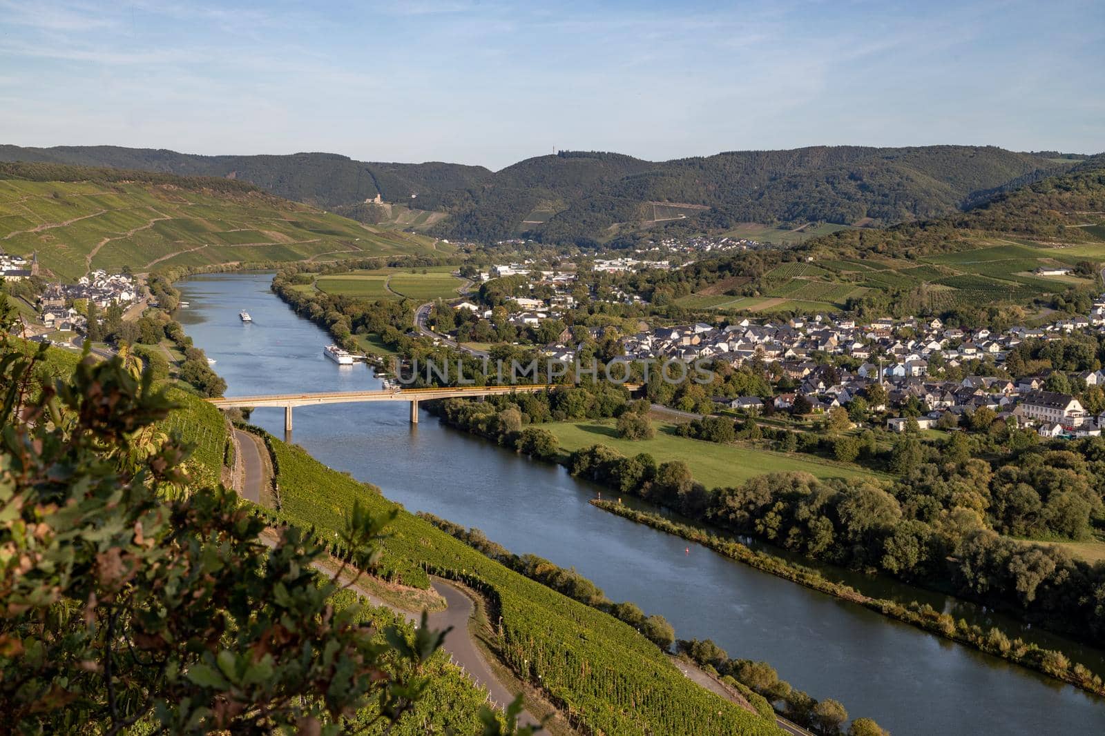
[[[118,146],[0,146],[0,161],[72,163],[240,179],[280,196],[323,207],[357,204],[377,194],[387,202],[410,201],[433,207],[443,192],[476,185],[491,175],[483,167],[439,162],[372,163],[336,153],[197,156]],[[413,201],[412,194],[418,195]]]

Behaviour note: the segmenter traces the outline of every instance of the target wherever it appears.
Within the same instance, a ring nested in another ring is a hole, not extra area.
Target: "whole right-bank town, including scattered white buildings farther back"
[[[594,270],[600,267],[661,266],[617,259],[596,262]],[[532,263],[509,264],[492,267],[488,276],[517,274],[538,278],[535,284],[551,287],[552,296],[509,299],[505,306],[511,324],[536,328],[577,306],[571,296],[576,281],[571,269],[538,271]],[[606,300],[622,305],[645,303],[619,289],[610,289],[606,296]],[[462,301],[454,308],[487,320],[494,313],[473,301]],[[716,396],[718,409],[758,414],[765,410],[764,402],[769,401],[768,412],[788,412],[801,396],[802,407],[808,405],[807,414],[821,414],[848,406],[856,396],[867,395],[873,384],[880,384],[885,402],[870,408],[898,414],[886,418],[890,430],[950,429],[986,407],[997,418],[1033,427],[1043,437],[1074,438],[1098,436],[1105,427],[1105,406],[1087,408],[1075,395],[1086,387],[1105,386],[1105,371],[1086,370],[1055,377],[1059,372],[1053,371],[1015,375],[1007,365],[1007,356],[1025,341],[1059,340],[1088,330],[1105,333],[1105,295],[1086,316],[1001,332],[949,327],[939,318],[857,321],[815,314],[778,321],[743,318],[728,323],[655,327],[620,340],[628,360],[724,362],[734,369],[754,366],[769,377],[785,376],[793,383],[792,391],[780,391],[771,397]],[[600,334],[591,330],[593,338]],[[570,331],[565,330],[540,351],[559,361],[571,361],[578,349]],[[985,375],[976,375],[972,370]],[[902,415],[902,407],[909,407],[908,415]]]

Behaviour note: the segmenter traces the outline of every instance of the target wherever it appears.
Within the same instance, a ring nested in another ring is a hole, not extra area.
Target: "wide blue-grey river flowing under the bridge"
[[[228,396],[379,387],[365,365],[324,358],[326,332],[273,295],[271,280],[271,274],[222,274],[177,284],[189,302],[177,318],[217,361]],[[241,322],[241,310],[253,323]],[[602,488],[425,414],[411,425],[407,404],[295,412],[295,442],[407,509],[477,526],[512,552],[573,566],[612,600],[664,616],[680,638],[709,638],[730,657],[766,660],[794,687],[834,697],[852,717],[873,717],[895,736],[1105,733],[1099,698],[596,509],[588,501]],[[283,435],[282,409],[256,409],[251,420]],[[929,602],[970,622],[997,621],[1011,636],[1105,673],[1101,651],[938,594],[821,569],[869,595]]]

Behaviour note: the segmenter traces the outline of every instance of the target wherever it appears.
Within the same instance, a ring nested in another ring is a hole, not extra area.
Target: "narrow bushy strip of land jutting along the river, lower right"
[[[1060,651],[1041,649],[1033,643],[1025,643],[1021,639],[1010,639],[997,628],[985,631],[980,627],[967,625],[966,621],[956,621],[951,616],[936,611],[929,606],[902,606],[893,600],[865,596],[855,588],[827,580],[817,570],[788,563],[762,552],[755,552],[739,542],[704,532],[687,524],[673,522],[660,514],[630,509],[622,503],[600,499],[591,501],[591,504],[623,519],[674,534],[688,542],[696,542],[729,559],[735,559],[841,600],[857,604],[903,623],[972,647],[987,654],[1035,670],[1094,695],[1105,697],[1105,683],[1103,683],[1101,675],[1090,672],[1082,664],[1072,666],[1070,659]]]

